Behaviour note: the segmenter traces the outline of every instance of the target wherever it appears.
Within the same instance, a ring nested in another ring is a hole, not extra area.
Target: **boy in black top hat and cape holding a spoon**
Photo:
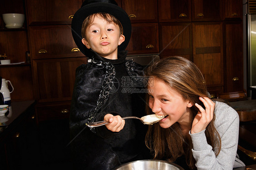
[[[131,35],[126,12],[113,0],[96,1],[86,0],[72,19],[77,46],[92,59],[76,70],[70,114],[72,158],[75,169],[111,170],[148,158],[143,155],[147,126],[121,118],[144,115],[144,94],[127,92],[143,88],[143,68],[125,60]],[[101,120],[110,123],[91,129],[85,125]]]

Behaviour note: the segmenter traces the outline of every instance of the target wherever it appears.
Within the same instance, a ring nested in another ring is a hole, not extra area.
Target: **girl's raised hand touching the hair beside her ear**
[[[206,126],[210,123],[210,121],[213,118],[215,103],[208,97],[199,97],[199,100],[201,100],[205,105],[205,110],[202,106],[198,105],[197,103],[195,104],[195,106],[200,111],[198,111],[197,115],[195,116],[195,119],[193,120],[192,128],[190,131],[191,134],[205,130]]]

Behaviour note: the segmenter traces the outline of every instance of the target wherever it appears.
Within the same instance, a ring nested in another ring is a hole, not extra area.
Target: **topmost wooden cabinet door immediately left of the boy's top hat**
[[[71,24],[82,0],[26,0],[29,25]]]

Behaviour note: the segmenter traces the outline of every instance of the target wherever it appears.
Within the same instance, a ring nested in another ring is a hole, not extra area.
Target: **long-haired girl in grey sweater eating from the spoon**
[[[225,103],[210,100],[195,64],[183,57],[165,58],[148,67],[146,76],[148,114],[168,115],[147,132],[154,159],[174,161],[184,169],[244,166],[236,158],[239,116]]]

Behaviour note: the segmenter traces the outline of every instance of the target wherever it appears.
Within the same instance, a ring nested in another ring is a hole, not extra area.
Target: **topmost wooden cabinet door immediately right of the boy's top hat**
[[[122,8],[131,22],[157,22],[157,0],[122,0]]]

